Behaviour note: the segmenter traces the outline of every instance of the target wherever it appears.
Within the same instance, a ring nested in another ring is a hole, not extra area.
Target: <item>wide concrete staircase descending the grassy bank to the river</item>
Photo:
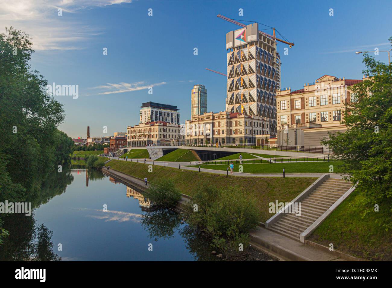
[[[301,216],[285,213],[270,230],[299,240],[299,235],[327,211],[350,187],[343,179],[327,178],[301,201]]]

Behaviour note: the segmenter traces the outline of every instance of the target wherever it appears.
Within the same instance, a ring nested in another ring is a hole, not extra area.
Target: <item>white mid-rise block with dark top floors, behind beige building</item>
[[[139,124],[164,121],[167,123],[180,124],[180,113],[177,106],[146,102],[140,106],[140,121]]]

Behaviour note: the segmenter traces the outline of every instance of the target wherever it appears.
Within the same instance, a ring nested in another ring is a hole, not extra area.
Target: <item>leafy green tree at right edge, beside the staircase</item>
[[[389,41],[392,44],[392,37]],[[361,203],[365,217],[380,203],[387,203],[392,212],[392,63],[368,54],[363,63],[368,78],[352,87],[358,100],[346,104],[341,124],[347,130],[330,133],[322,143],[344,160],[343,171],[358,182],[357,192],[366,196]],[[379,220],[379,225],[392,228],[390,218]]]

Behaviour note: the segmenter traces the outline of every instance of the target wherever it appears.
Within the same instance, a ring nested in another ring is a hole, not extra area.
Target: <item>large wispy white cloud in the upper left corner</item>
[[[0,32],[13,26],[33,38],[34,50],[83,49],[82,42],[102,34],[99,27],[87,26],[82,21],[72,22],[66,13],[80,13],[85,9],[132,0],[0,0]],[[61,8],[63,16],[58,16]]]

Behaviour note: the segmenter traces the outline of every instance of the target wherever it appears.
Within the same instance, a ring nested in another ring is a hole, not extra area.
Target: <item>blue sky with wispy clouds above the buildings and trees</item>
[[[276,27],[294,42],[288,55],[278,44],[281,87],[293,89],[324,74],[361,79],[362,56],[354,52],[389,50],[392,36],[391,1],[0,0],[0,7],[1,29],[13,25],[33,37],[33,69],[49,83],[79,85],[77,99],[55,98],[66,112],[60,129],[83,138],[87,126],[92,136],[125,131],[147,101],[177,105],[185,121],[195,84],[207,88],[208,110],[224,110],[226,78],[205,68],[226,73],[225,34],[238,26],[217,14]],[[387,53],[375,57],[388,61]]]

